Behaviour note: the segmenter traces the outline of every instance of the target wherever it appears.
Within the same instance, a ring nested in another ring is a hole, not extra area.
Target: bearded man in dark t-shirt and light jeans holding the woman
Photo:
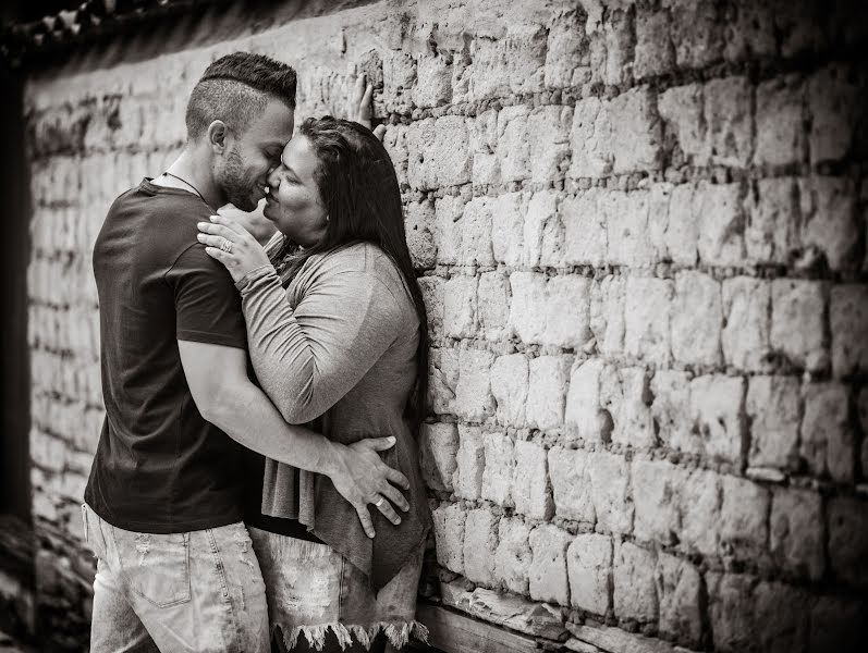
[[[97,237],[107,415],[83,505],[98,557],[94,653],[269,650],[240,444],[328,476],[371,537],[368,503],[408,508],[390,484],[407,480],[377,454],[391,439],[346,447],[289,426],[249,381],[239,293],[196,239],[217,208],[264,197],[294,103],[290,66],[243,52],[215,61],[191,95],[184,151],[121,195]]]

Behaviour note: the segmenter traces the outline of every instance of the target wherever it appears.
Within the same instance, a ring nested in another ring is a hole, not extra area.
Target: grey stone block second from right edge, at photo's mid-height
[[[820,281],[771,282],[771,346],[808,371],[821,371],[829,365],[823,321],[827,293]]]

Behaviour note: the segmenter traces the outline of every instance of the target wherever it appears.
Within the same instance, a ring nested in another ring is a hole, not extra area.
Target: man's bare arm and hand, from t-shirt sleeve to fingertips
[[[288,424],[247,378],[243,349],[192,341],[178,341],[178,348],[193,401],[206,420],[247,448],[328,476],[356,509],[369,538],[375,533],[367,504],[384,496],[401,509],[409,509],[391,484],[407,489],[406,477],[377,454],[391,447],[393,438],[367,439],[345,446],[309,429]],[[379,509],[390,521],[400,523],[401,518],[388,501],[380,502]]]

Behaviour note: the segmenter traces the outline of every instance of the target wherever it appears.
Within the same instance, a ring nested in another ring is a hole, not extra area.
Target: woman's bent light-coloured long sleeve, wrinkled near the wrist
[[[239,284],[257,379],[290,423],[319,417],[367,373],[404,321],[372,272],[332,268],[293,310],[273,268]]]

